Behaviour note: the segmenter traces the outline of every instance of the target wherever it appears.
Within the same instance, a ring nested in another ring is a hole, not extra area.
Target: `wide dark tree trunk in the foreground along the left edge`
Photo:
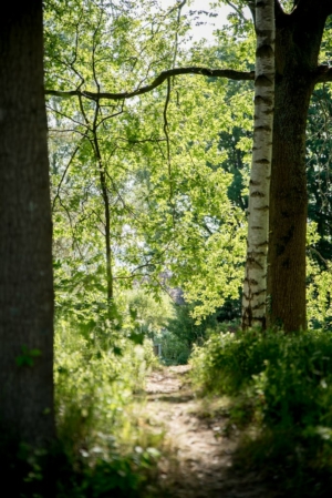
[[[35,446],[54,436],[41,0],[6,4],[0,54],[0,424]]]

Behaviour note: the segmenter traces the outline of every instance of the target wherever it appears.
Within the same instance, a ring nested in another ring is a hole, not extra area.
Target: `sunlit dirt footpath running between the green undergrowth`
[[[166,435],[166,456],[151,494],[169,498],[274,498],[273,485],[234,466],[240,431],[229,427],[227,400],[195,397],[189,366],[154,372],[146,385],[148,424]],[[269,486],[268,486],[269,485]]]

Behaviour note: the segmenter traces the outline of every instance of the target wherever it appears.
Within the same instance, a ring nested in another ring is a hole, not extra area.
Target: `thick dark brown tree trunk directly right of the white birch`
[[[276,12],[276,100],[270,191],[268,322],[287,332],[307,327],[305,128],[318,55],[331,0],[302,0]]]

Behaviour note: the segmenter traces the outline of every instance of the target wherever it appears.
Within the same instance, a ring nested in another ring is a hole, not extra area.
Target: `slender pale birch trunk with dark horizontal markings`
[[[266,327],[269,194],[274,105],[274,0],[256,0],[256,78],[242,327]]]

